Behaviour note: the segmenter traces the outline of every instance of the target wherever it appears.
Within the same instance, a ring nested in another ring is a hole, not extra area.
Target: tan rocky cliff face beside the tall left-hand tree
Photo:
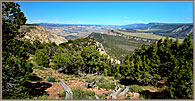
[[[58,36],[40,25],[23,25],[19,31],[25,32],[25,36],[20,40],[30,41],[31,43],[35,39],[40,40],[42,43],[55,42],[57,45],[67,42],[64,37]]]

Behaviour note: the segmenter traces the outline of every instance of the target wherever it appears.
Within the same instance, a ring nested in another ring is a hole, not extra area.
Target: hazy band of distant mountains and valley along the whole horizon
[[[92,32],[107,33],[119,29],[130,33],[152,33],[161,36],[184,39],[191,34],[193,39],[193,23],[157,23],[128,24],[128,25],[96,25],[96,24],[54,24],[37,23],[53,33],[66,39],[87,37]]]

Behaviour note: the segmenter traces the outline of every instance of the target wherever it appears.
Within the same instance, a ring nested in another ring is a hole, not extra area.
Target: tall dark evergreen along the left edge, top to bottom
[[[30,43],[17,40],[24,33],[19,33],[26,17],[20,5],[13,2],[2,3],[2,95],[3,99],[26,98],[29,90],[26,83],[32,73],[32,64],[28,61],[33,53]]]

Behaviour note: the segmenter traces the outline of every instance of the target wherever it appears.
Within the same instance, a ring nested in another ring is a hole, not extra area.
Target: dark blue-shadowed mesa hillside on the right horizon
[[[162,36],[175,38],[186,38],[193,34],[193,24],[180,23],[148,23],[148,24],[130,24],[121,26],[128,32],[153,33]]]

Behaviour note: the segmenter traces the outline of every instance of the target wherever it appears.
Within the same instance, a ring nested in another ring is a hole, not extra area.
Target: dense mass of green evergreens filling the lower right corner
[[[120,67],[121,76],[133,75],[132,80],[144,85],[155,85],[164,79],[170,98],[192,98],[193,43],[190,36],[183,43],[167,37],[157,43],[142,45],[130,58],[125,58]],[[132,66],[128,65],[131,62]]]

